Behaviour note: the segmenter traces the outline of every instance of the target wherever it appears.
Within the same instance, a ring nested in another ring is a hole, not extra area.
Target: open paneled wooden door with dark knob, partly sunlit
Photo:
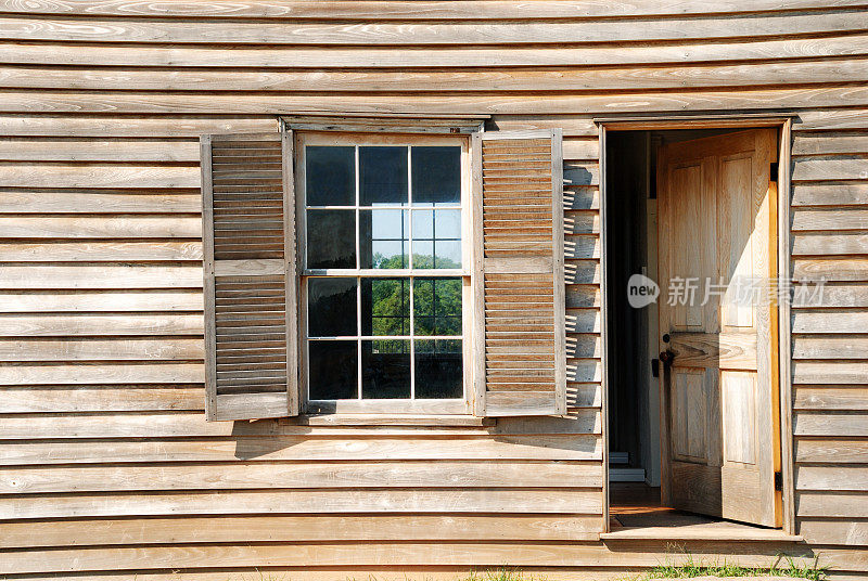
[[[675,508],[781,525],[774,129],[658,157],[662,494]]]

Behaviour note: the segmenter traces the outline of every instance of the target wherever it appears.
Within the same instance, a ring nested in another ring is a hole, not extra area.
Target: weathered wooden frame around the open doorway
[[[790,267],[790,197],[792,120],[795,115],[786,113],[768,114],[710,114],[710,115],[663,115],[663,116],[622,116],[595,118],[599,131],[600,146],[600,365],[601,365],[601,414],[602,414],[602,461],[603,461],[603,532],[609,532],[609,305],[608,305],[608,221],[607,221],[607,133],[610,131],[650,131],[665,129],[753,129],[762,127],[778,128],[778,280],[791,277]],[[778,302],[778,387],[780,390],[780,454],[783,480],[783,532],[795,534],[795,501],[793,473],[793,429],[792,429],[792,347],[790,331],[790,304]],[[661,459],[662,461],[662,459]]]

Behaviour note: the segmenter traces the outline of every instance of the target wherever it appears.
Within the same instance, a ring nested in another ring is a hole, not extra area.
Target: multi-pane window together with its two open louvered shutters
[[[207,419],[565,413],[561,131],[369,121],[203,135]]]

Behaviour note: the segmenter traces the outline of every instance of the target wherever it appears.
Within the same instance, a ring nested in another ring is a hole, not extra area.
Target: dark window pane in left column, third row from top
[[[356,279],[307,280],[308,337],[357,335]]]

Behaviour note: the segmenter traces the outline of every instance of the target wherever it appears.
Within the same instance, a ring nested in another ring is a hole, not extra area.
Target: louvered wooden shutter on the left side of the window
[[[202,138],[209,421],[298,413],[292,143]]]

